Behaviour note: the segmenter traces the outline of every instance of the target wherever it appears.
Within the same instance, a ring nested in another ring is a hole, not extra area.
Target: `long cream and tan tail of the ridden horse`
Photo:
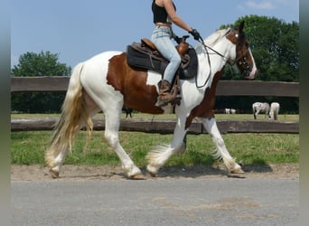
[[[89,133],[93,128],[92,119],[89,117],[85,100],[82,97],[83,89],[80,83],[82,68],[83,63],[78,64],[70,76],[69,87],[61,108],[61,117],[55,125],[51,146],[45,154],[45,161],[51,168],[61,164],[57,163],[58,155],[62,155],[58,159],[64,160],[68,147],[71,149],[80,127],[86,126]]]

